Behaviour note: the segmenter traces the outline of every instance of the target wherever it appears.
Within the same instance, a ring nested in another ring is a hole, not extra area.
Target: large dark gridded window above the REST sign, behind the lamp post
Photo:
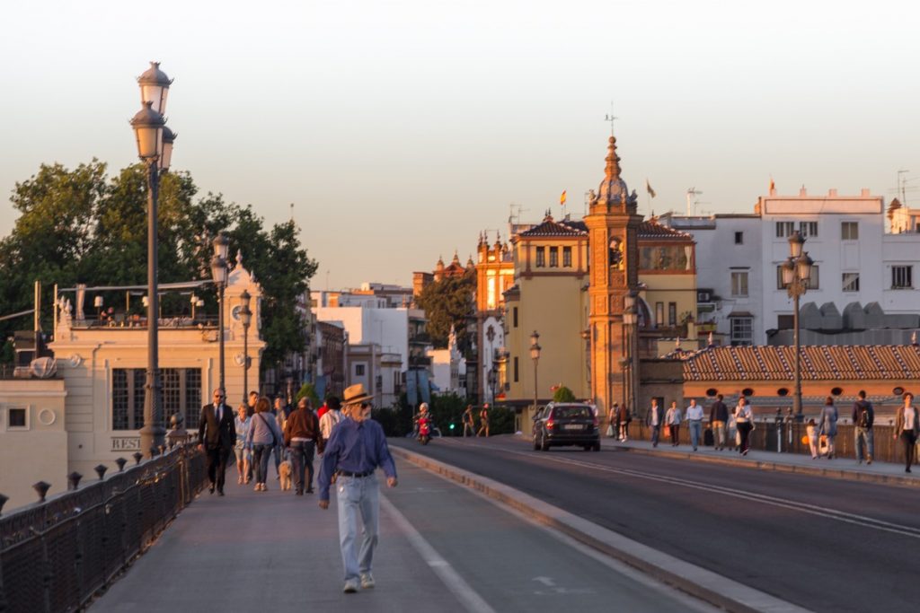
[[[145,369],[112,369],[112,429],[144,426]],[[163,416],[168,424],[179,414],[185,426],[198,425],[201,415],[201,369],[160,369]]]

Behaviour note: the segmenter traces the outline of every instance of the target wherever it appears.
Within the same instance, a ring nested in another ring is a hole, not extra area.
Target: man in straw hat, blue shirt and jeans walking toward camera
[[[370,419],[373,396],[361,383],[345,390],[342,398],[345,418],[332,429],[319,468],[319,508],[329,507],[329,486],[337,475],[339,501],[339,546],[345,565],[346,594],[374,587],[371,562],[377,545],[380,518],[380,489],[374,471],[386,474],[386,485],[397,486],[397,467],[386,447],[384,429]],[[358,520],[362,541],[358,545]]]

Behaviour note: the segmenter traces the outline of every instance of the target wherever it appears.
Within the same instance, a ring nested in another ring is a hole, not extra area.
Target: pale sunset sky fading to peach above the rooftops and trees
[[[292,215],[313,289],[408,285],[477,236],[583,213],[615,120],[640,212],[780,194],[920,206],[920,9],[837,0],[45,0],[0,9],[0,236],[42,163],[136,161],[135,77],[175,79],[174,169]],[[914,177],[916,180],[914,180]],[[657,193],[650,199],[646,181]],[[233,249],[233,247],[231,247]],[[245,253],[244,253],[245,255]]]

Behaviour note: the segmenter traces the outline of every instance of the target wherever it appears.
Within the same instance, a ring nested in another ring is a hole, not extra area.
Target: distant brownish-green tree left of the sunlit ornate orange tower
[[[425,311],[428,334],[435,348],[443,349],[447,346],[453,325],[457,347],[461,353],[466,353],[472,340],[466,333],[466,319],[475,311],[475,291],[475,270],[467,271],[463,277],[443,278],[421,290],[416,302]]]

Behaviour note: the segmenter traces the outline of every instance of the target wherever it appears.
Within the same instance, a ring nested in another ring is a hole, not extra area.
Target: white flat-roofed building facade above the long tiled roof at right
[[[714,324],[722,344],[765,345],[776,331],[793,327],[793,302],[779,269],[796,231],[814,260],[800,299],[803,312],[806,306],[820,312],[833,328],[836,321],[843,326],[847,305],[851,311],[854,305],[880,307],[890,315],[917,311],[920,234],[886,233],[884,199],[868,189],[856,196],[834,189],[815,196],[805,188],[798,196],[778,196],[772,190],[753,214],[669,214],[661,222],[694,235],[700,324]]]

